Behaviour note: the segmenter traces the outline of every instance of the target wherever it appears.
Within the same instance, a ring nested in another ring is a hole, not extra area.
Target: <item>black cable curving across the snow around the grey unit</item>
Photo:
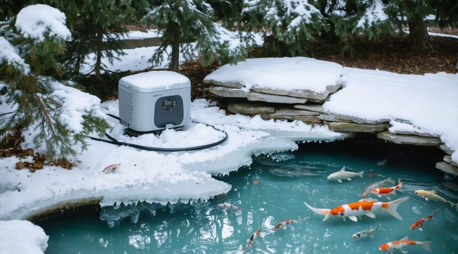
[[[111,117],[113,117],[113,118],[115,118],[117,120],[120,120],[120,118],[118,116],[116,116],[116,115],[112,115],[112,114],[107,114],[107,115],[111,116]],[[90,139],[92,139],[92,140],[101,141],[101,142],[105,142],[105,143],[108,143],[108,144],[125,145],[125,146],[130,146],[130,147],[134,147],[134,148],[138,148],[138,149],[142,149],[142,150],[157,151],[157,152],[180,152],[180,151],[202,150],[202,149],[214,147],[214,146],[217,146],[217,145],[220,145],[220,144],[226,142],[228,136],[227,136],[227,133],[225,131],[218,130],[212,125],[208,125],[208,124],[205,124],[205,125],[210,126],[211,128],[213,128],[213,129],[215,129],[217,131],[223,132],[224,133],[224,137],[222,139],[216,141],[216,142],[211,143],[211,144],[191,146],[191,147],[180,147],[180,148],[151,147],[151,146],[143,146],[143,145],[137,145],[137,144],[132,144],[132,143],[120,142],[120,141],[116,140],[115,138],[111,137],[110,135],[108,135],[107,133],[105,133],[105,137],[107,137],[109,140],[99,139],[99,138],[89,137],[89,136],[88,137]]]

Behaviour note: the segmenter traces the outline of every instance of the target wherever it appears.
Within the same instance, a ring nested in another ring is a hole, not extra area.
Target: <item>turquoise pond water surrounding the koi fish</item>
[[[374,146],[356,141],[301,144],[295,152],[253,157],[251,167],[217,177],[233,188],[228,195],[210,202],[78,210],[38,224],[49,235],[47,253],[235,252],[258,228],[261,237],[246,252],[378,253],[381,244],[409,236],[417,241],[430,239],[433,253],[457,253],[458,212],[449,204],[426,202],[413,193],[416,189],[435,189],[458,202],[456,185],[442,183],[444,175],[434,167],[443,154],[433,148]],[[384,167],[377,166],[388,156]],[[364,178],[343,183],[326,179],[342,166],[353,172],[364,170]],[[404,181],[402,193],[394,197],[410,197],[398,207],[404,220],[381,211],[376,219],[362,216],[354,222],[331,217],[322,222],[323,216],[303,203],[333,208],[355,202],[368,184],[384,177]],[[253,184],[255,179],[259,183]],[[446,187],[450,185],[452,188]],[[239,205],[242,212],[217,208],[222,202]],[[423,231],[409,229],[436,208],[441,209],[425,223]],[[273,230],[281,220],[298,218],[302,221],[286,230]],[[352,238],[354,233],[379,224],[381,229],[374,239]],[[407,250],[426,252],[419,246]]]

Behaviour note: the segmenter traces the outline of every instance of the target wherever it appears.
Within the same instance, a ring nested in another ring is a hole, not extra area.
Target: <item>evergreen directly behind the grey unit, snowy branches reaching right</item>
[[[215,60],[235,63],[246,57],[246,45],[236,34],[214,22],[214,10],[207,2],[163,0],[151,5],[145,23],[154,25],[162,34],[162,44],[150,59],[153,65],[160,65],[167,55],[169,68],[178,71],[180,50],[185,59],[199,57],[204,65]]]

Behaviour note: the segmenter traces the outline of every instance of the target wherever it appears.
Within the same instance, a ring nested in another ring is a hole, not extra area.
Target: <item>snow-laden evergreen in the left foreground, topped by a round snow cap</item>
[[[70,38],[65,15],[46,5],[28,6],[0,24],[0,47],[5,49],[0,53],[0,84],[6,90],[3,103],[12,108],[0,121],[0,135],[23,128],[49,160],[75,154],[75,145],[87,145],[88,134],[107,128],[100,100],[42,76],[63,72],[56,57]],[[77,105],[69,101],[72,97],[79,99]]]

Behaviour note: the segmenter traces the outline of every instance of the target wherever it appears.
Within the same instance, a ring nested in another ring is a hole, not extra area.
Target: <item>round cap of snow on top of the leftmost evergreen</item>
[[[45,35],[62,40],[71,38],[65,14],[48,5],[30,5],[19,11],[14,24],[25,38],[44,41]]]

